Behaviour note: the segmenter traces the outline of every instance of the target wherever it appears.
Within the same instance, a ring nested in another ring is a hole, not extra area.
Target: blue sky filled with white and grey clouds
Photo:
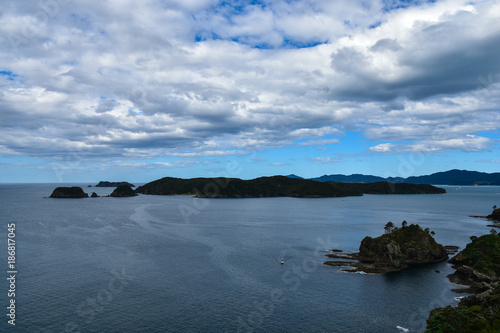
[[[0,182],[500,171],[500,1],[4,0]]]

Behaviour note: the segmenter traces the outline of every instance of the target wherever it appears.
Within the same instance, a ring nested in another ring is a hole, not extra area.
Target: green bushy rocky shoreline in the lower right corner
[[[469,286],[454,291],[475,295],[456,307],[433,309],[426,332],[500,332],[500,237],[492,232],[471,240],[450,260],[456,272],[448,278]]]

